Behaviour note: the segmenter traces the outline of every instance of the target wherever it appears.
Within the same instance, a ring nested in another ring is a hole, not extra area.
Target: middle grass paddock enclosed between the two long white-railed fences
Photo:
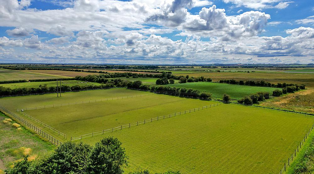
[[[167,95],[147,95],[24,112],[62,130],[68,136],[77,137],[214,103]]]

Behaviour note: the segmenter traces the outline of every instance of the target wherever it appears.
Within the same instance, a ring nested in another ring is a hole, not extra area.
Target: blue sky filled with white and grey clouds
[[[314,1],[0,0],[0,63],[314,63]]]

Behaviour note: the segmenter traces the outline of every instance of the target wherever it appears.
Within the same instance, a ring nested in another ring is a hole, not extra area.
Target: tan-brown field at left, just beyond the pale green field
[[[62,70],[23,70],[21,72],[27,72],[37,75],[51,75],[51,76],[63,76],[63,77],[75,77],[87,76],[87,75],[99,75],[100,73],[88,73],[88,72],[76,72],[76,71],[62,71]]]

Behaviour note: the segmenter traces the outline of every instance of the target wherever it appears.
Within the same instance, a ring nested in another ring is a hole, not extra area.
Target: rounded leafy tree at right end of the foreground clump
[[[113,137],[107,137],[95,144],[90,157],[87,173],[90,174],[122,174],[127,166],[125,149],[121,142]]]

